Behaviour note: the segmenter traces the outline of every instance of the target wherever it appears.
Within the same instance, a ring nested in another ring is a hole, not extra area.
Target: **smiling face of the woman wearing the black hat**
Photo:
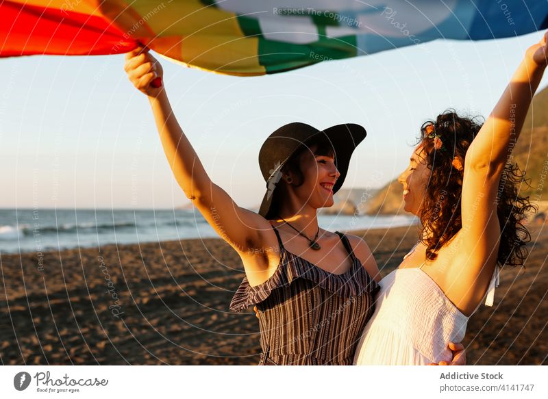
[[[331,207],[334,204],[333,187],[340,176],[333,151],[319,149],[317,144],[313,144],[301,153],[298,168],[301,176],[295,170],[288,171],[292,184],[287,189],[303,204],[316,209]]]

